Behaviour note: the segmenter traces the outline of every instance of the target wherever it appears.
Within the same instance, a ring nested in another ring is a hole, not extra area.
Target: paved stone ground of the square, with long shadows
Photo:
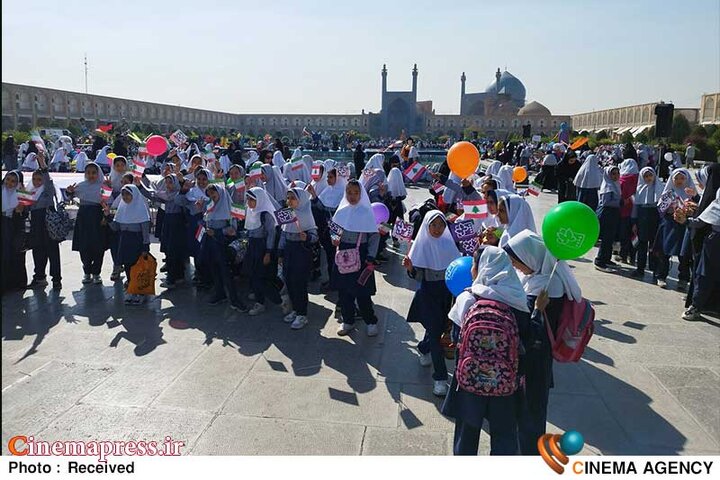
[[[425,196],[413,189],[408,203]],[[529,201],[539,226],[555,199]],[[199,455],[451,452],[452,423],[418,364],[422,327],[404,320],[414,282],[399,254],[377,275],[381,333],[372,339],[364,329],[336,336],[333,298],[316,286],[302,331],[277,307],[226,326],[232,311],[207,306],[207,293],[184,287],[125,307],[120,284],[107,280],[109,254],[104,285],[86,287],[69,242],[61,255],[59,294],[2,299],[4,452],[18,434],[171,435]],[[632,280],[629,269],[596,272],[593,256],[571,264],[596,305],[596,334],[581,362],[555,367],[549,430],[579,430],[585,453],[720,453],[720,321],[684,322],[681,293]],[[173,329],[171,319],[192,328]],[[164,343],[147,351],[143,339],[160,333]]]

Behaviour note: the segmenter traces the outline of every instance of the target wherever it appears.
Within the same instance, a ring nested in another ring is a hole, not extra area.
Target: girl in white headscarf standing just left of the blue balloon
[[[425,336],[418,344],[420,364],[433,365],[433,393],[438,396],[447,393],[447,368],[440,337],[445,332],[452,304],[452,295],[445,285],[445,270],[459,256],[445,216],[439,210],[431,210],[425,214],[417,237],[403,259],[408,275],[420,282],[407,321],[420,322],[425,327]]]

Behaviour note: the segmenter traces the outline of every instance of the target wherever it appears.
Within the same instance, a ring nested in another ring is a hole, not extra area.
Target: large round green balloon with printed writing
[[[555,258],[582,257],[597,242],[600,222],[595,212],[581,202],[563,202],[543,220],[543,241]]]

